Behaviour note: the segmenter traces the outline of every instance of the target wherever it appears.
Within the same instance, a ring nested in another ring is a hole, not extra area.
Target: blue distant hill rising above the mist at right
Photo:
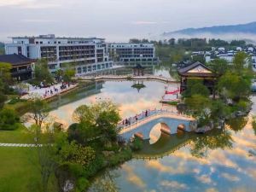
[[[247,33],[256,35],[256,21],[247,24],[233,25],[233,26],[211,26],[203,28],[187,28],[183,30],[178,30],[175,32],[165,32],[162,36],[172,36],[175,34],[195,36],[199,34],[214,34],[214,35],[224,35],[224,34],[238,34]]]

